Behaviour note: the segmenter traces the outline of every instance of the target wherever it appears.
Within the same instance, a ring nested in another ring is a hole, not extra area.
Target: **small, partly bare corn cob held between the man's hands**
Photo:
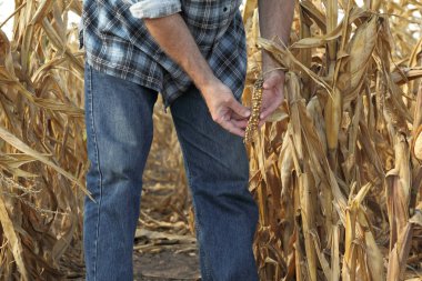
[[[253,84],[252,92],[252,112],[248,121],[248,127],[244,132],[244,143],[251,143],[253,134],[258,131],[258,123],[260,122],[261,104],[262,104],[262,87],[263,79],[260,78]]]

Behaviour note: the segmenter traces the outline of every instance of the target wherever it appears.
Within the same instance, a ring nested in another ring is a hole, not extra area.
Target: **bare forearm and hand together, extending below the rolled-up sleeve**
[[[212,119],[229,132],[244,137],[249,109],[240,104],[231,90],[215,78],[182,17],[177,13],[144,19],[144,22],[161,49],[192,78],[205,99]]]

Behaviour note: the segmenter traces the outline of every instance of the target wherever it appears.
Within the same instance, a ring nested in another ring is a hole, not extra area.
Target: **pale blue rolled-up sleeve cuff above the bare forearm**
[[[181,10],[180,0],[140,0],[130,7],[132,16],[139,19],[162,18]]]

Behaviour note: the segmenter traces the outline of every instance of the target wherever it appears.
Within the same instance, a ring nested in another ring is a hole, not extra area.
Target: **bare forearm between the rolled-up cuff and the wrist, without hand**
[[[198,89],[202,91],[217,80],[179,13],[144,19],[144,23],[161,49],[182,67]]]

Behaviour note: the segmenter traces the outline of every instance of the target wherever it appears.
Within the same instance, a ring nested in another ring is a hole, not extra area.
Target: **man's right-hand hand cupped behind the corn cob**
[[[260,127],[284,100],[284,77],[285,74],[281,70],[271,71],[264,77]]]

